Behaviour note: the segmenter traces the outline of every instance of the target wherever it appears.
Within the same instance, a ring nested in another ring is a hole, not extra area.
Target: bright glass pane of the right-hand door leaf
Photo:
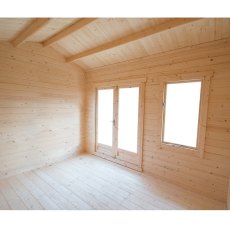
[[[137,153],[139,87],[119,89],[118,148]]]

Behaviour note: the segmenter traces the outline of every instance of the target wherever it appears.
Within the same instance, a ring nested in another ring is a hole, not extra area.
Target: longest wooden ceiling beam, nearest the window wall
[[[162,31],[166,31],[172,28],[175,28],[177,26],[180,25],[184,25],[186,23],[189,22],[193,22],[196,20],[199,20],[200,18],[177,18],[177,19],[173,19],[170,21],[167,21],[163,24],[157,25],[157,26],[153,26],[153,27],[149,27],[147,29],[141,30],[139,32],[133,33],[133,34],[129,34],[127,36],[121,37],[119,39],[116,39],[114,41],[99,45],[97,47],[94,47],[92,49],[89,50],[85,50],[81,53],[77,53],[75,55],[69,56],[66,58],[67,62],[73,62],[77,59],[95,54],[95,53],[99,53],[108,49],[112,49],[114,47],[120,46],[120,45],[124,45],[126,43],[132,42],[132,41],[136,41],[138,39],[162,32]]]

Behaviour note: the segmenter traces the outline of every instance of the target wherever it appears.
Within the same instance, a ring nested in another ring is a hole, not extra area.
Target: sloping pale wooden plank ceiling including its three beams
[[[228,37],[229,18],[0,19],[0,41],[50,45],[85,70]]]

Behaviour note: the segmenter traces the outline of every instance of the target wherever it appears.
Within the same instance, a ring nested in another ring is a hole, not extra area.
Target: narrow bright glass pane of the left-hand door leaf
[[[113,89],[98,90],[98,143],[112,146]]]

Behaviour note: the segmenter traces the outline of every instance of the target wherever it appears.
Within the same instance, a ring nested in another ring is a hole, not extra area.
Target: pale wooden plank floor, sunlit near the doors
[[[1,180],[0,209],[225,209],[225,204],[81,155]]]

